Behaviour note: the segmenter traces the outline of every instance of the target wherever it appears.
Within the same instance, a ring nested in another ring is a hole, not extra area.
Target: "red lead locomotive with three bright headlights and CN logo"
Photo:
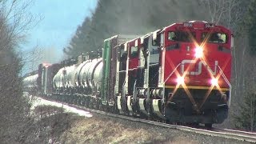
[[[167,26],[160,34],[158,86],[164,90],[166,118],[206,125],[223,122],[231,99],[230,30],[192,21]]]

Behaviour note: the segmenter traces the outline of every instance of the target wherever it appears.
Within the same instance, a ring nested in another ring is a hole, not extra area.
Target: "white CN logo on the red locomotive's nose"
[[[185,73],[185,66],[186,65],[195,64],[195,63],[196,63],[196,61],[194,61],[194,60],[187,60],[187,59],[183,60],[182,61],[182,74]],[[208,70],[210,72],[210,74],[213,74],[213,75],[217,74],[218,61],[215,61],[214,70],[212,70],[210,68],[210,66],[208,66],[206,64],[206,62],[200,61],[200,62],[198,62],[198,69],[196,71],[186,71],[186,74],[188,74],[188,75],[200,75],[200,74],[202,74],[202,66],[205,66],[206,70]]]

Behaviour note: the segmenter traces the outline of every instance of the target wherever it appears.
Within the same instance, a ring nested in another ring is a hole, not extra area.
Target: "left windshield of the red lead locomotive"
[[[179,42],[192,42],[192,39],[195,39],[194,32],[186,32],[186,31],[170,31],[168,33],[168,39],[171,41],[179,41]]]

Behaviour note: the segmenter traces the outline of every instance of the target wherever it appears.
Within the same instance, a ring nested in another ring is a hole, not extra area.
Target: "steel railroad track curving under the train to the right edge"
[[[221,137],[221,138],[231,138],[231,139],[236,139],[236,140],[241,140],[246,142],[256,142],[256,133],[240,131],[240,130],[219,129],[214,127],[211,130],[205,130],[203,128],[194,128],[190,126],[171,125],[171,124],[166,124],[162,122],[154,122],[154,121],[150,121],[142,118],[133,118],[126,115],[112,114],[105,111],[93,110],[90,108],[86,108],[85,106],[78,106],[78,105],[69,104],[65,102],[62,102],[62,103],[68,106],[75,107],[80,110],[90,111],[91,113],[104,114],[110,117],[122,118],[122,119],[130,120],[133,122],[142,122],[142,123],[146,123],[154,126],[162,126],[165,128],[184,130],[184,131],[189,131],[197,134],[206,134],[206,135]]]

